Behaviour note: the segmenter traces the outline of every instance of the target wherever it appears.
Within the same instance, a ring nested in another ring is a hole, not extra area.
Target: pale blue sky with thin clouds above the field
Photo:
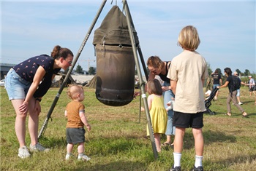
[[[170,61],[180,54],[178,34],[193,25],[201,41],[197,52],[212,71],[220,68],[223,73],[229,67],[256,73],[255,1],[127,2],[145,63],[151,55]],[[1,63],[50,55],[57,44],[76,57],[101,4],[99,0],[1,1]],[[113,5],[123,7],[121,0],[106,2],[76,63],[83,70],[97,66],[94,31]]]

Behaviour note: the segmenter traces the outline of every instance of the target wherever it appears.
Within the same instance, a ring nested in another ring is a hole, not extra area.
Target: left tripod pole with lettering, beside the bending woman
[[[67,75],[66,75],[66,77],[65,77],[65,79],[64,79],[64,81],[63,81],[63,83],[61,84],[61,87],[59,88],[59,92],[57,93],[55,99],[53,100],[53,104],[50,106],[50,110],[48,111],[48,114],[47,114],[47,117],[46,117],[46,119],[45,119],[45,122],[44,122],[44,124],[42,125],[41,130],[39,131],[38,138],[41,138],[41,136],[42,136],[43,133],[45,132],[46,127],[47,127],[47,125],[48,125],[48,121],[49,121],[49,119],[50,119],[50,116],[51,116],[51,114],[53,113],[53,109],[55,108],[56,103],[58,102],[59,97],[60,97],[60,95],[61,95],[61,92],[62,92],[62,90],[64,89],[64,87],[65,87],[65,85],[66,85],[66,83],[67,83],[67,79],[69,79],[69,76],[70,76],[70,74],[71,74],[73,68],[75,67],[75,63],[77,63],[78,58],[79,58],[79,56],[80,56],[80,54],[81,54],[81,52],[82,52],[82,50],[83,50],[83,47],[86,45],[86,42],[87,42],[87,40],[89,39],[89,36],[90,36],[90,34],[91,34],[91,31],[92,31],[92,29],[94,28],[94,25],[95,25],[95,23],[97,22],[97,20],[98,20],[98,18],[99,18],[99,15],[100,15],[100,13],[102,12],[102,9],[103,9],[103,7],[105,6],[105,3],[106,3],[106,2],[107,2],[107,0],[103,0],[101,6],[99,7],[99,10],[98,10],[98,12],[97,12],[97,15],[94,17],[93,23],[91,23],[91,26],[90,26],[90,28],[89,28],[89,31],[86,33],[86,36],[85,36],[85,38],[83,39],[83,42],[82,42],[82,44],[81,44],[81,46],[80,46],[80,48],[79,48],[79,50],[78,50],[78,53],[77,53],[77,55],[75,56],[75,59],[73,60],[72,66],[71,66],[71,68],[69,68],[69,71],[67,72]]]

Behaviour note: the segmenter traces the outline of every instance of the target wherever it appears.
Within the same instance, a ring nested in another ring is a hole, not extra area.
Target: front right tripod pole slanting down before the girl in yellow
[[[142,85],[142,87],[141,87],[141,98],[143,99],[143,103],[144,103],[144,106],[145,106],[146,118],[147,118],[147,121],[148,121],[148,130],[149,130],[149,135],[150,135],[150,140],[151,140],[151,146],[152,146],[152,149],[153,149],[153,152],[154,152],[154,159],[157,159],[158,158],[157,146],[156,146],[156,143],[154,141],[154,131],[153,131],[152,124],[151,124],[151,118],[150,118],[148,103],[147,103],[147,99],[146,99],[145,86],[143,85],[143,77],[142,77],[141,71],[140,71],[140,63],[139,63],[139,60],[138,60],[135,38],[134,38],[134,34],[132,32],[135,29],[132,28],[132,25],[131,25],[131,23],[132,23],[131,18],[132,17],[129,13],[127,1],[123,0],[123,4],[124,4],[124,11],[125,11],[125,14],[126,14],[126,17],[127,17],[127,25],[128,25],[128,28],[129,28],[129,36],[130,36],[130,39],[132,41],[132,50],[133,50],[133,55],[135,57],[135,64],[136,64],[136,67],[137,67],[137,70],[138,70],[138,77],[140,79],[139,80],[140,85]]]

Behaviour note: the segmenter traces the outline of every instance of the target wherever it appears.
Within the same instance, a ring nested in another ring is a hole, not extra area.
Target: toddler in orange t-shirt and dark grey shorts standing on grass
[[[68,88],[67,94],[69,98],[72,99],[71,102],[67,104],[65,116],[67,116],[67,126],[66,126],[66,137],[67,137],[67,155],[66,160],[72,156],[72,149],[74,144],[78,144],[78,159],[85,161],[90,160],[89,156],[83,154],[84,152],[84,142],[86,130],[83,125],[86,126],[87,130],[91,130],[91,125],[86,119],[85,107],[81,103],[84,100],[83,87],[79,85],[72,84]]]

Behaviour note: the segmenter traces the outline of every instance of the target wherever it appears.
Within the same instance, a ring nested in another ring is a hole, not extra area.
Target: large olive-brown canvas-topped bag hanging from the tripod
[[[135,43],[138,44],[136,32]],[[108,106],[124,106],[133,100],[135,59],[127,19],[113,6],[94,32],[97,55],[96,98]]]

